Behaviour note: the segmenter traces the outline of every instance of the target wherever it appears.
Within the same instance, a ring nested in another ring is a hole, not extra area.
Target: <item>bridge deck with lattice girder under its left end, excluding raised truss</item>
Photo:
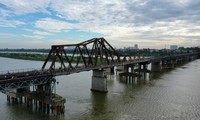
[[[111,68],[116,66],[124,66],[129,64],[140,64],[140,63],[154,63],[159,61],[166,61],[166,60],[172,60],[172,59],[178,59],[182,57],[187,56],[194,56],[199,53],[188,53],[188,54],[179,54],[179,55],[170,55],[170,56],[164,56],[164,57],[138,57],[135,56],[132,59],[130,56],[128,57],[121,57],[121,62],[113,62],[110,64],[100,64],[97,66],[89,65],[85,66],[82,64],[82,66],[77,67],[68,67],[64,69],[38,69],[38,70],[30,70],[30,71],[24,71],[24,72],[8,72],[5,74],[0,75],[0,91],[5,92],[12,89],[17,88],[24,88],[24,87],[30,87],[33,85],[42,85],[46,83],[52,82],[52,78],[54,76],[60,76],[60,75],[69,75],[74,73],[79,73],[83,71],[90,71],[94,69],[104,69],[104,68]]]

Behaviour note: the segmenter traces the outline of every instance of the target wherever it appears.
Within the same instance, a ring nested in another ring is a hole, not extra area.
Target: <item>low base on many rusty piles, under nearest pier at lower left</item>
[[[18,97],[22,95],[23,97]],[[13,97],[11,97],[13,96]],[[51,96],[46,96],[45,94],[39,94],[37,92],[7,92],[7,101],[12,104],[22,104],[24,98],[24,104],[27,105],[31,110],[36,110],[43,114],[54,114],[61,115],[65,111],[65,98],[57,94],[52,94]],[[50,112],[52,111],[52,112]]]

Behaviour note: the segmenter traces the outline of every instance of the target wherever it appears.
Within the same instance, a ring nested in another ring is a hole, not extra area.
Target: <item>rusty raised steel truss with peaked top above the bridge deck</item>
[[[52,45],[42,70],[87,68],[115,62],[120,62],[118,52],[104,38],[93,38],[78,44]]]

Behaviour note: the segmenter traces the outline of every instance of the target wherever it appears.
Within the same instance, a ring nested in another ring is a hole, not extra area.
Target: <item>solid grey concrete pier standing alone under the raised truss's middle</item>
[[[108,92],[104,70],[93,70],[91,90],[97,92]]]

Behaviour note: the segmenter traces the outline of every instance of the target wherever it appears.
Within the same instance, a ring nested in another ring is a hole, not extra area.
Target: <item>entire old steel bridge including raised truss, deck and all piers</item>
[[[78,44],[52,45],[41,69],[0,74],[0,91],[7,95],[8,102],[22,102],[24,98],[27,105],[33,106],[34,102],[35,108],[40,111],[48,114],[52,108],[53,112],[60,114],[64,111],[66,100],[53,92],[55,76],[93,70],[91,90],[107,92],[103,69],[120,66],[123,75],[132,75],[137,71],[140,75],[148,71],[147,65],[150,63],[154,68],[151,68],[152,71],[160,71],[162,65],[174,67],[179,62],[186,63],[199,55],[199,52],[163,57],[120,55],[104,38],[93,38]],[[138,69],[134,69],[134,65],[138,65]]]

